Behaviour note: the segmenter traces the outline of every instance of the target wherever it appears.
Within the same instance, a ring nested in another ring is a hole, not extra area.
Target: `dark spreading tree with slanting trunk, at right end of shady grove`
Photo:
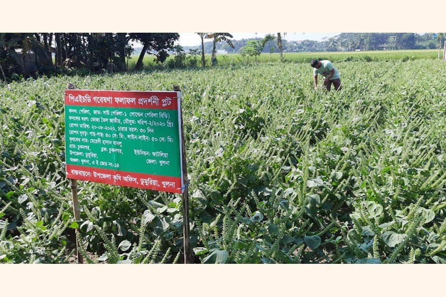
[[[135,69],[141,70],[143,66],[143,59],[146,52],[151,50],[157,58],[157,62],[164,62],[169,56],[168,49],[173,49],[173,43],[179,39],[178,33],[130,33],[131,40],[138,40],[143,45],[143,49],[136,62]]]

